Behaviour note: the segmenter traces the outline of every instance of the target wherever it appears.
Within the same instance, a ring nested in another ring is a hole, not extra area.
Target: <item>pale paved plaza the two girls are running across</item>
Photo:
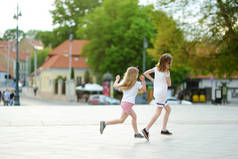
[[[238,105],[174,105],[168,129],[162,118],[151,138],[135,139],[131,119],[99,132],[100,120],[118,118],[120,106],[50,104],[32,99],[0,105],[0,159],[237,159]],[[141,130],[155,106],[136,105]],[[163,114],[162,114],[163,117]]]

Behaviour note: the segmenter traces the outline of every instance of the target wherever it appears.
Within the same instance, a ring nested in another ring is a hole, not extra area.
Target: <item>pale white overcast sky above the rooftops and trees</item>
[[[153,3],[155,0],[140,0],[143,4]],[[0,37],[7,29],[16,27],[13,19],[17,10],[17,3],[22,16],[19,17],[19,29],[52,30],[52,16],[49,10],[53,9],[54,0],[1,0],[0,2]]]

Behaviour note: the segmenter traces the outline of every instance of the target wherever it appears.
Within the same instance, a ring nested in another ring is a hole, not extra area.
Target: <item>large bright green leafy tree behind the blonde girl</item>
[[[77,34],[90,40],[83,52],[96,73],[122,75],[128,66],[142,68],[143,39],[155,31],[149,17],[152,9],[138,0],[104,0],[102,7],[80,19],[85,27]],[[147,56],[147,68],[151,63]]]

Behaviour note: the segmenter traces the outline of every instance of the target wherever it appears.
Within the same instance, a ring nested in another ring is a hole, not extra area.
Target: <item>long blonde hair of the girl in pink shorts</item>
[[[131,89],[136,83],[138,73],[139,69],[137,67],[129,67],[119,84],[119,90],[125,91]]]

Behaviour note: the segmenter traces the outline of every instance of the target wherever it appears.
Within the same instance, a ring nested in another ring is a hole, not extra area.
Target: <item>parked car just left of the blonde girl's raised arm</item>
[[[92,105],[119,105],[120,100],[111,98],[102,94],[90,95],[88,98],[88,104]]]

